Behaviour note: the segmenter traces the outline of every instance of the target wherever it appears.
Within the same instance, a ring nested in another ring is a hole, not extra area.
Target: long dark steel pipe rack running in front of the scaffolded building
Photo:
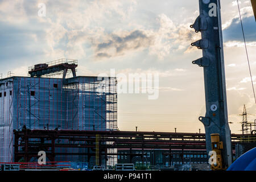
[[[87,156],[90,162],[91,156],[98,156],[98,159],[108,160],[109,156],[122,155],[109,152],[108,148],[128,148],[140,149],[142,154],[133,154],[133,156],[142,156],[144,149],[166,149],[164,155],[176,154],[175,150],[181,151],[181,156],[187,154],[188,150],[205,151],[205,134],[198,133],[159,133],[159,132],[135,132],[135,131],[83,131],[83,130],[30,130],[23,127],[22,130],[14,130],[14,159],[18,162],[21,158],[29,162],[31,158],[38,157],[38,151],[46,151],[47,157],[54,162],[58,155],[82,155]],[[100,137],[99,137],[100,136]],[[241,143],[250,138],[255,142],[255,135],[232,134],[232,144]],[[64,142],[66,141],[66,142]],[[109,144],[108,142],[112,142]],[[69,151],[58,152],[57,148],[84,148],[84,152]],[[98,151],[97,151],[98,150]],[[201,153],[200,153],[201,154]],[[101,160],[98,160],[101,164]]]

